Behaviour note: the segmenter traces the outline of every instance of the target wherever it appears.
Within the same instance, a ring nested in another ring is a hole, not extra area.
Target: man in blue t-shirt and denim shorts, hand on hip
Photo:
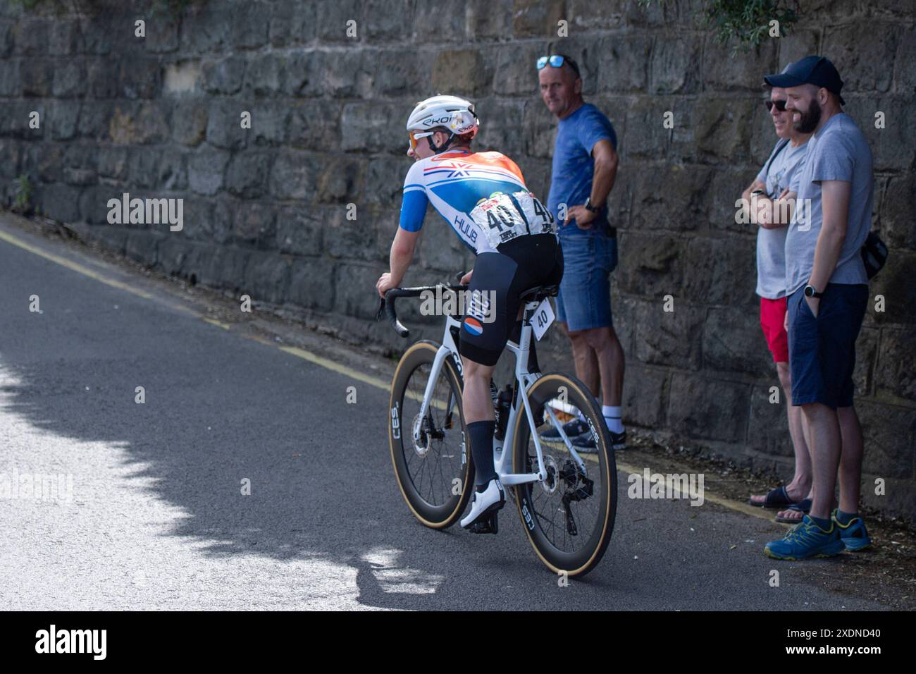
[[[616,229],[607,221],[607,195],[617,172],[614,127],[582,98],[575,61],[562,54],[538,59],[540,97],[560,120],[553,146],[551,192],[547,207],[560,223],[563,279],[557,296],[557,321],[573,345],[576,376],[603,401],[614,449],[623,449],[621,422],[624,351],[611,318],[608,275],[617,266]],[[599,386],[600,383],[600,386]],[[594,451],[583,419],[564,430],[579,451]],[[559,436],[556,429],[545,437]]]

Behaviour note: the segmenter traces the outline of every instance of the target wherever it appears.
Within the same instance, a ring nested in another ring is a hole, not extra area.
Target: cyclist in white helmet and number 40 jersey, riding
[[[391,269],[376,289],[384,296],[400,285],[428,204],[476,254],[474,269],[462,278],[471,297],[459,344],[463,408],[476,474],[471,512],[461,525],[488,531],[473,525],[483,524],[506,503],[493,465],[491,377],[507,339],[518,338],[519,296],[534,286],[559,283],[562,253],[553,216],[529,193],[516,163],[499,152],[471,150],[479,125],[474,104],[457,96],[432,96],[410,113],[408,155],[415,163],[404,180]],[[483,298],[493,298],[493,305]]]

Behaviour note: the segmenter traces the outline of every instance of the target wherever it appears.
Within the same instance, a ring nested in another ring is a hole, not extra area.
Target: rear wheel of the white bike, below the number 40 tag
[[[617,470],[605,418],[592,393],[567,375],[540,377],[529,387],[528,397],[541,434],[554,427],[545,411],[551,405],[561,424],[581,413],[588,426],[582,437],[591,434],[594,442],[591,448],[573,446],[580,463],[562,438],[540,436],[547,479],[515,487],[518,514],[540,560],[554,573],[582,576],[604,556],[616,518]],[[538,454],[526,414],[518,414],[514,437],[514,471],[537,472]]]

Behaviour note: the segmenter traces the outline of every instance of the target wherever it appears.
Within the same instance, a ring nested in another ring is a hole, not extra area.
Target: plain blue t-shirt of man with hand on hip
[[[560,204],[566,204],[567,207],[581,205],[592,195],[592,149],[602,139],[610,140],[614,149],[617,149],[617,136],[611,120],[590,103],[583,104],[572,115],[563,117],[557,125],[547,208],[557,219],[561,237],[588,233],[576,227],[575,220],[570,220],[566,227],[562,226]],[[593,224],[595,227],[608,227],[606,205],[595,217]]]

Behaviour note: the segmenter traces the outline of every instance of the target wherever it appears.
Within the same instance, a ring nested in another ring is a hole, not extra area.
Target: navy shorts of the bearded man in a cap
[[[856,337],[867,304],[864,283],[828,283],[816,318],[804,286],[789,296],[792,404],[822,403],[834,410],[852,406]]]

